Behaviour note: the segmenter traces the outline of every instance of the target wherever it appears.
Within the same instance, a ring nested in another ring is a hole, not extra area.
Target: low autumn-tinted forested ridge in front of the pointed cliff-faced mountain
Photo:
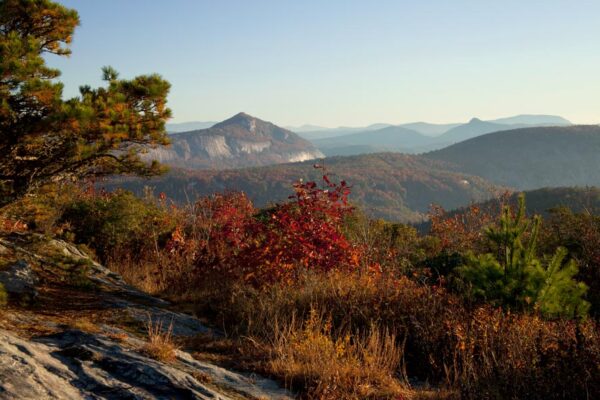
[[[449,172],[445,163],[397,153],[326,159],[329,174],[352,185],[350,200],[375,217],[420,221],[432,203],[447,209],[491,198],[503,189],[479,177]],[[257,206],[285,201],[298,179],[319,182],[313,163],[226,171],[173,170],[152,180],[121,179],[109,186],[142,193],[145,186],[179,202],[225,190],[244,191]]]

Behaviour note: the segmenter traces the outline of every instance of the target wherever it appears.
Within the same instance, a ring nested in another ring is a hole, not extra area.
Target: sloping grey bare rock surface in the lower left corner
[[[89,279],[98,285],[93,296],[104,310],[124,311],[141,326],[149,320],[162,322],[164,329],[172,324],[174,336],[218,335],[193,316],[169,310],[168,302],[128,286],[75,246],[47,240],[46,247],[53,249],[53,254],[58,250],[67,257],[89,260]],[[48,258],[28,253],[19,247],[23,243],[8,247],[40,263]],[[8,276],[10,271],[3,272]],[[31,274],[31,265],[23,261],[10,276],[22,277],[35,289],[37,278]],[[35,310],[10,309],[0,313],[4,320],[0,328],[2,400],[294,398],[272,380],[196,360],[183,350],[175,350],[175,360],[171,362],[150,358],[143,351],[144,337],[120,326],[99,324],[96,331],[84,332],[64,327],[60,321],[48,319],[43,311]],[[16,328],[19,324],[54,333],[25,337]]]

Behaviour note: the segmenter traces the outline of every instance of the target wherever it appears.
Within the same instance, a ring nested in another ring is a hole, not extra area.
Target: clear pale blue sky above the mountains
[[[172,122],[600,122],[600,1],[63,0],[81,26],[65,94],[158,72]]]

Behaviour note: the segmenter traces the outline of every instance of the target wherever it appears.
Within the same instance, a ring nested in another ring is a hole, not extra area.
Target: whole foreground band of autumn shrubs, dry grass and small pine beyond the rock
[[[365,217],[325,174],[293,189],[256,209],[243,193],[181,207],[90,185],[26,198],[4,218],[193,310],[237,343],[245,368],[305,398],[600,393],[600,217],[529,217],[522,198],[434,208],[420,234]]]

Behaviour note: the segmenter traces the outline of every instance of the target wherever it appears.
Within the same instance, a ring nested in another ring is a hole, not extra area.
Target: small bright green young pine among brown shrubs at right
[[[510,309],[538,309],[547,317],[584,316],[589,304],[583,300],[587,287],[573,279],[577,265],[565,263],[567,251],[558,248],[552,257],[541,260],[536,242],[541,219],[525,216],[525,197],[519,197],[517,213],[509,207],[500,222],[485,231],[495,254],[469,253],[457,273],[467,295]]]

